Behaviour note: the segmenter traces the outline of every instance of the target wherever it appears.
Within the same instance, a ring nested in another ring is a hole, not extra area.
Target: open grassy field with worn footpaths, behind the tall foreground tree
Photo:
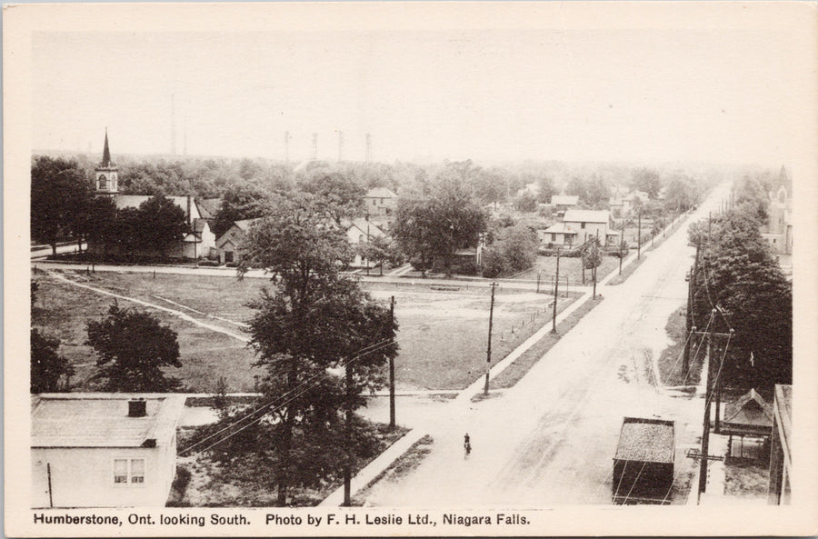
[[[239,324],[253,316],[247,303],[263,286],[262,279],[238,281],[231,277],[173,274],[115,274],[66,272],[77,282],[115,294],[183,311],[197,320],[242,334]],[[32,324],[62,341],[61,353],[75,364],[75,390],[90,390],[95,355],[85,344],[85,324],[105,315],[114,298],[35,274],[39,284]],[[488,286],[435,291],[423,285],[365,284],[375,299],[395,296],[395,317],[400,324],[400,354],[395,360],[399,389],[462,389],[484,373],[490,291]],[[560,298],[558,311],[574,301]],[[173,303],[171,303],[173,302]],[[551,296],[504,289],[495,295],[493,364],[528,335],[550,321]],[[135,306],[120,300],[126,307]],[[182,306],[184,305],[184,306]],[[145,307],[138,307],[145,308]],[[183,380],[186,389],[212,392],[220,376],[228,391],[253,391],[254,353],[244,342],[185,321],[173,314],[152,310],[177,334],[183,366],[168,374]]]

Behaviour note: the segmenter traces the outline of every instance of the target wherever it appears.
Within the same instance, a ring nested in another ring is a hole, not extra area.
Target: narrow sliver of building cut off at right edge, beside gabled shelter
[[[793,476],[793,386],[775,384],[773,396],[773,440],[770,448],[770,484],[767,502],[790,504]]]

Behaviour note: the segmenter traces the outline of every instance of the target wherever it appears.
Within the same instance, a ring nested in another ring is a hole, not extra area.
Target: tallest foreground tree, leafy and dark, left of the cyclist
[[[251,305],[257,313],[250,334],[256,365],[267,373],[265,398],[281,403],[259,448],[273,454],[282,505],[290,485],[316,481],[305,470],[339,464],[339,453],[351,464],[353,411],[365,388],[383,382],[381,367],[397,353],[388,310],[338,271],[351,252],[326,207],[308,194],[283,199],[251,227],[240,267],[263,267],[275,283],[274,293],[264,290]],[[333,367],[343,367],[344,377],[327,371]]]

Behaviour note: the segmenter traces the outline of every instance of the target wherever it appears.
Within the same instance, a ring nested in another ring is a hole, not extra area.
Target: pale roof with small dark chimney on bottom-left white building
[[[128,401],[145,399],[144,417],[128,417]],[[32,395],[32,447],[142,447],[168,444],[185,406],[176,394],[62,393]]]

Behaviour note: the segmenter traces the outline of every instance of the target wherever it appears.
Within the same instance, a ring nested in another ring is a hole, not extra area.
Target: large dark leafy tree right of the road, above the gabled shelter
[[[770,391],[792,382],[793,292],[759,232],[756,207],[738,205],[692,231],[702,242],[692,276],[693,324],[718,333],[733,329],[726,353],[725,340],[713,339],[713,357],[724,354],[725,384]]]

